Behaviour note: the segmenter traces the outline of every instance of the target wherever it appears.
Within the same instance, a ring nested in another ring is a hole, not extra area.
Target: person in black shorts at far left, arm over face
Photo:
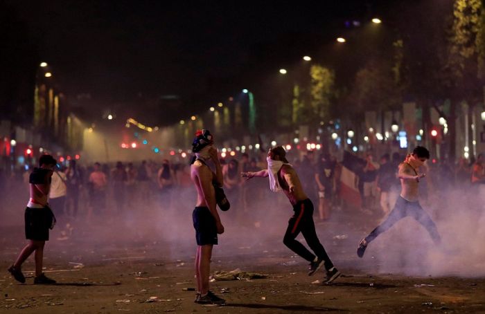
[[[44,245],[48,241],[48,230],[55,224],[55,217],[47,199],[51,188],[51,176],[57,161],[51,155],[42,155],[39,158],[39,167],[34,168],[29,176],[30,199],[25,210],[25,235],[27,245],[21,250],[15,264],[8,268],[12,276],[25,282],[21,265],[35,252],[35,279],[34,284],[55,284],[42,273],[42,258],[44,257]]]

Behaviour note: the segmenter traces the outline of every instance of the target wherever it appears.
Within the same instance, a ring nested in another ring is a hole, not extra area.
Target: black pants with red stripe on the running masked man
[[[299,201],[293,206],[294,215],[288,221],[288,229],[286,230],[283,243],[288,246],[290,250],[297,253],[307,261],[313,261],[315,255],[325,261],[325,268],[329,270],[333,267],[330,257],[325,252],[324,246],[321,245],[317,232],[315,231],[315,223],[313,222],[313,204],[310,198],[304,201]],[[310,249],[315,252],[310,252],[303,244],[296,240],[297,235],[301,232],[305,237],[306,243]]]

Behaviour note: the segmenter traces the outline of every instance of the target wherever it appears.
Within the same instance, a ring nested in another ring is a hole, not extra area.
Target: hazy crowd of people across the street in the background
[[[340,195],[340,173],[342,163],[332,154],[320,151],[306,151],[296,156],[288,154],[290,163],[297,169],[303,189],[315,203],[316,221],[327,221],[335,211],[346,207]],[[293,156],[293,158],[291,158]],[[267,184],[263,181],[248,185],[241,172],[257,172],[265,169],[266,153],[256,156],[240,154],[238,158],[223,158],[224,192],[231,202],[228,212],[234,217],[254,214],[256,204],[265,198]],[[399,180],[396,176],[398,165],[405,154],[382,154],[374,156],[367,153],[360,156],[360,167],[356,172],[355,187],[358,187],[362,205],[358,209],[364,214],[384,217],[388,214],[399,193]],[[0,188],[4,191],[25,191],[30,170],[22,169],[6,177],[0,170]],[[190,190],[190,165],[188,160],[168,159],[143,160],[139,163],[114,164],[93,163],[80,165],[69,160],[66,165],[58,165],[52,177],[49,203],[60,221],[92,221],[103,219],[109,212],[111,216],[123,217],[133,212],[141,204],[157,210],[170,210],[175,195],[182,190]],[[426,199],[428,186],[433,191],[446,195],[450,189],[464,193],[480,194],[485,191],[485,158],[479,154],[477,159],[460,158],[457,163],[451,160],[431,158],[424,166],[427,180],[423,181],[421,198]],[[435,193],[435,192],[434,192]],[[188,196],[193,195],[187,193]],[[440,198],[440,195],[432,197]],[[17,206],[26,198],[8,195],[1,200],[2,207]],[[19,208],[20,208],[19,207]],[[65,217],[65,219],[64,219]]]

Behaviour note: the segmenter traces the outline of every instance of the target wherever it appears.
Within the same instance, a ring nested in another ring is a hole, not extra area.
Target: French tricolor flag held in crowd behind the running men
[[[340,197],[344,205],[360,208],[362,200],[358,189],[358,167],[363,162],[362,158],[355,156],[349,151],[344,151],[342,160],[342,173],[340,174]]]

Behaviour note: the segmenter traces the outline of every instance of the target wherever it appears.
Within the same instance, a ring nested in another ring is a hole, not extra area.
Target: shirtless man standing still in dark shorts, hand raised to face
[[[195,277],[197,279],[197,295],[195,303],[225,304],[225,300],[214,295],[209,290],[209,273],[211,271],[212,248],[218,244],[218,234],[224,232],[224,226],[215,207],[215,192],[213,184],[222,187],[222,167],[218,151],[213,147],[213,136],[209,130],[202,129],[195,133],[192,143],[195,160],[191,165],[191,178],[197,189],[197,204],[192,218],[197,240],[195,255]],[[212,160],[215,173],[207,163]]]

